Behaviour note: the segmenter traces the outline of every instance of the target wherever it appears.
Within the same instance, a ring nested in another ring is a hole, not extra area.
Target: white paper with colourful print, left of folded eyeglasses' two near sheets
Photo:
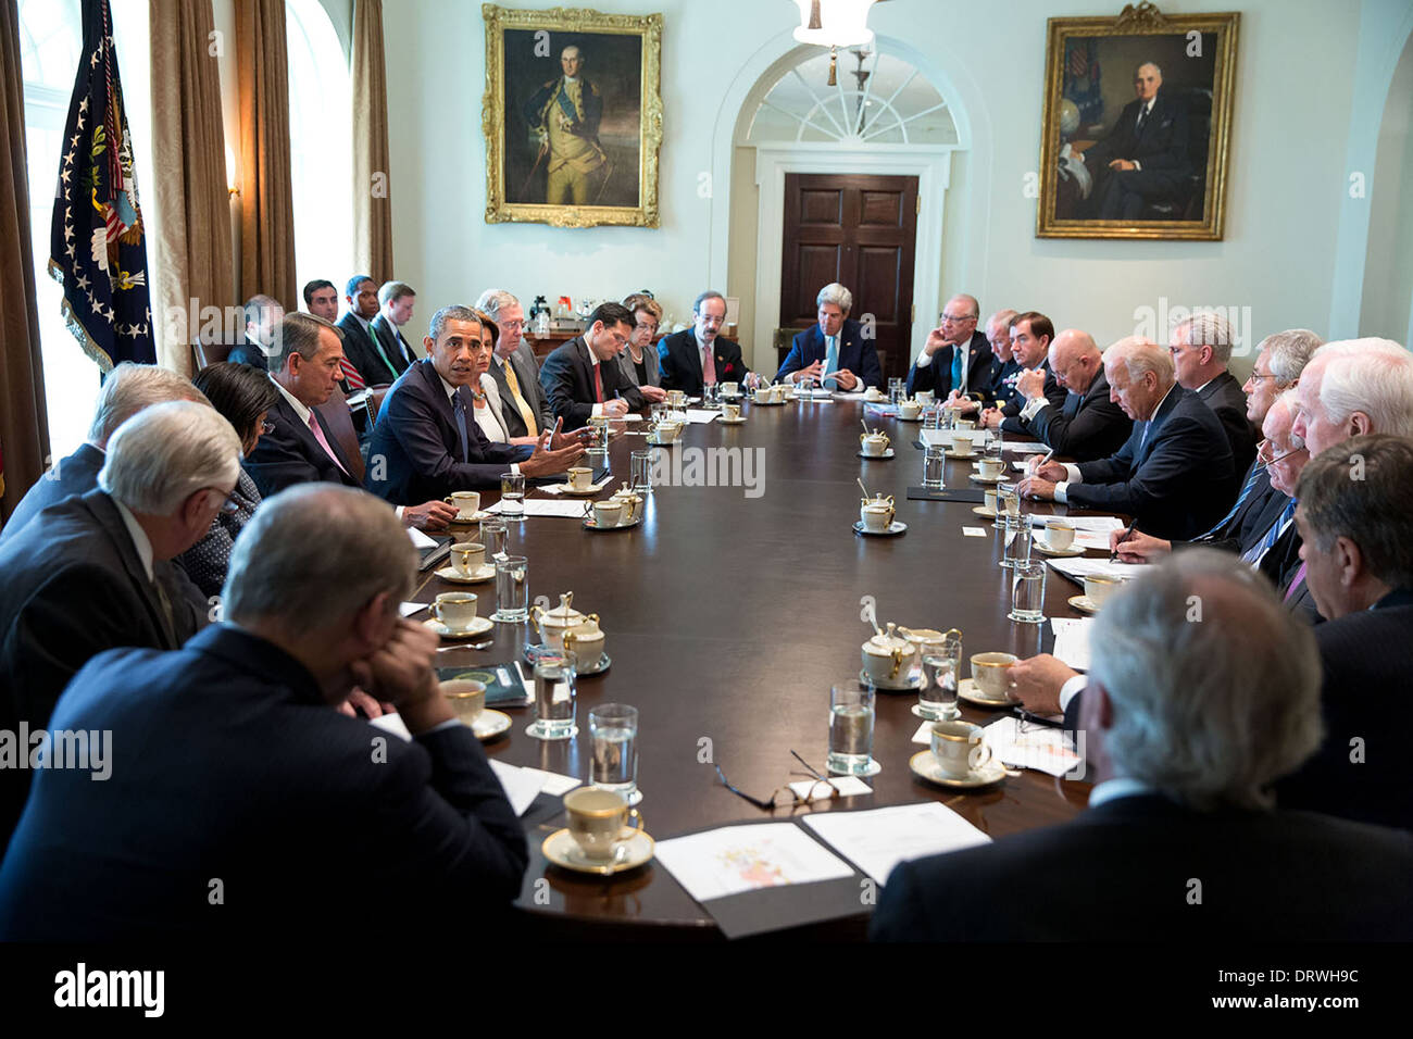
[[[794,823],[728,826],[658,841],[657,861],[698,902],[853,874]]]

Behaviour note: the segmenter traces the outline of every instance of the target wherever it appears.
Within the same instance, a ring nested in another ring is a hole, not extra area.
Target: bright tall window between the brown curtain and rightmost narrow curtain
[[[328,278],[342,294],[355,273],[349,62],[319,0],[285,0],[284,16],[295,278]]]

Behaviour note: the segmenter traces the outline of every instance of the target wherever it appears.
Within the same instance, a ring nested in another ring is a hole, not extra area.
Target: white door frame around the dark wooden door
[[[756,146],[756,187],[760,189],[756,240],[756,327],[752,338],[753,370],[774,372],[774,329],[780,314],[780,266],[784,262],[786,174],[869,174],[917,177],[917,240],[913,249],[913,307],[916,318],[907,339],[909,360],[917,322],[931,328],[941,307],[942,205],[951,182],[955,144],[875,144],[849,151],[836,141]],[[822,288],[818,286],[817,288]],[[855,286],[848,286],[853,290]],[[859,314],[852,317],[859,318]],[[766,363],[763,363],[763,358]]]

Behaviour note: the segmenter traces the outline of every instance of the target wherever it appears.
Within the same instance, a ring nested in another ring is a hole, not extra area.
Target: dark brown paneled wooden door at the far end
[[[917,178],[786,174],[780,327],[808,328],[831,281],[873,315],[883,376],[906,376],[913,332]]]

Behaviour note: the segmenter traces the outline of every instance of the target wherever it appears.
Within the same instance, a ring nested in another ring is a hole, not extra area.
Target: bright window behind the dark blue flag
[[[133,131],[137,185],[144,216],[150,184],[151,102],[148,93],[147,0],[113,0],[123,103]],[[78,75],[83,18],[78,0],[21,0],[20,54],[24,69],[24,129],[30,174],[30,233],[40,311],[44,394],[54,458],[72,454],[88,435],[99,392],[99,370],[64,322],[59,283],[49,276],[49,226],[59,172],[64,120]]]

